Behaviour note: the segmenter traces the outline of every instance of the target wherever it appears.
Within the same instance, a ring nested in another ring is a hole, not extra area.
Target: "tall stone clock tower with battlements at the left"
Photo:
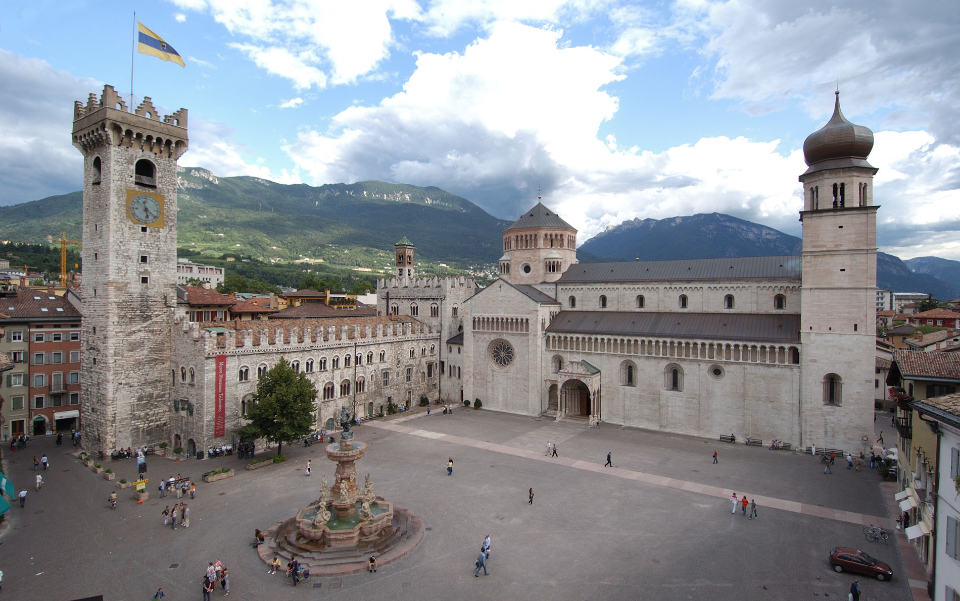
[[[110,85],[74,103],[73,145],[84,154],[83,446],[169,439],[177,302],[177,159],[185,108],[133,112]]]

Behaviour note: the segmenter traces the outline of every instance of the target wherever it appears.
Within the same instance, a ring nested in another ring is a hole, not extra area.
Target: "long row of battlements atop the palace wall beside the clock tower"
[[[403,340],[433,339],[439,331],[420,321],[393,317],[373,317],[364,323],[344,323],[337,319],[272,319],[269,322],[228,321],[201,324],[180,317],[178,332],[203,345],[204,355],[230,352],[296,351],[324,347],[342,347],[353,343],[387,343]],[[279,323],[278,323],[279,322]],[[269,323],[269,327],[258,327]],[[229,330],[214,333],[205,327]]]

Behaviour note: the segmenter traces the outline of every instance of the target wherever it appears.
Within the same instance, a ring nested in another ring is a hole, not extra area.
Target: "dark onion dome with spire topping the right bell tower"
[[[836,92],[833,116],[827,125],[814,131],[804,140],[804,160],[810,166],[807,173],[820,169],[869,167],[866,158],[874,148],[874,132],[869,127],[847,121],[840,112],[840,92]],[[825,163],[829,161],[829,163]],[[824,163],[824,165],[817,165]]]

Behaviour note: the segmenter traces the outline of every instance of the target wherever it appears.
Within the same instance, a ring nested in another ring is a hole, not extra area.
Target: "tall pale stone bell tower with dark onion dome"
[[[869,452],[876,335],[874,133],[840,111],[804,141],[800,414],[804,446]],[[863,437],[867,437],[867,442]]]

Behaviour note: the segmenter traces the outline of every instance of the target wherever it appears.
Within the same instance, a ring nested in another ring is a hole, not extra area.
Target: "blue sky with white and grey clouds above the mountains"
[[[714,211],[800,235],[839,81],[875,132],[881,249],[960,260],[953,0],[10,0],[0,204],[80,189],[73,101],[131,93],[134,10],[186,61],[136,55],[132,85],[190,110],[181,165],[435,185],[503,219],[542,188],[581,242]]]

